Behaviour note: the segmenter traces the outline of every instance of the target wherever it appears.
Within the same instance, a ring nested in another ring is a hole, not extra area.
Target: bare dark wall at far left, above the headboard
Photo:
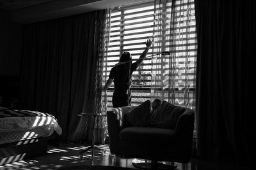
[[[0,74],[19,76],[22,54],[22,25],[11,22],[0,10]]]

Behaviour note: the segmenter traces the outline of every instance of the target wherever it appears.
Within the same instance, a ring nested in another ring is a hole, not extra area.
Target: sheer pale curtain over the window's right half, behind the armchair
[[[196,32],[193,0],[155,1],[151,99],[195,110]]]

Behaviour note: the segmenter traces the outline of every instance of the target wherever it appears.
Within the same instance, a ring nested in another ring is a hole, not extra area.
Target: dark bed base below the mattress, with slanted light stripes
[[[0,145],[0,166],[45,154],[48,145],[60,146],[59,135],[56,132],[49,137],[2,144]]]

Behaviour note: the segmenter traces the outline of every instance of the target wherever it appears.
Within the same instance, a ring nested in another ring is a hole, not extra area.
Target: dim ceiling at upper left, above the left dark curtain
[[[40,22],[147,0],[0,0],[0,10],[20,24]]]

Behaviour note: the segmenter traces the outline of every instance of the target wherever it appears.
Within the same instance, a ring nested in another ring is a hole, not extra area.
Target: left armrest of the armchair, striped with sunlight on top
[[[135,107],[136,106],[124,106],[107,111],[109,148],[111,153],[120,154],[118,151],[120,145],[119,134],[122,129],[127,127],[124,115]]]

